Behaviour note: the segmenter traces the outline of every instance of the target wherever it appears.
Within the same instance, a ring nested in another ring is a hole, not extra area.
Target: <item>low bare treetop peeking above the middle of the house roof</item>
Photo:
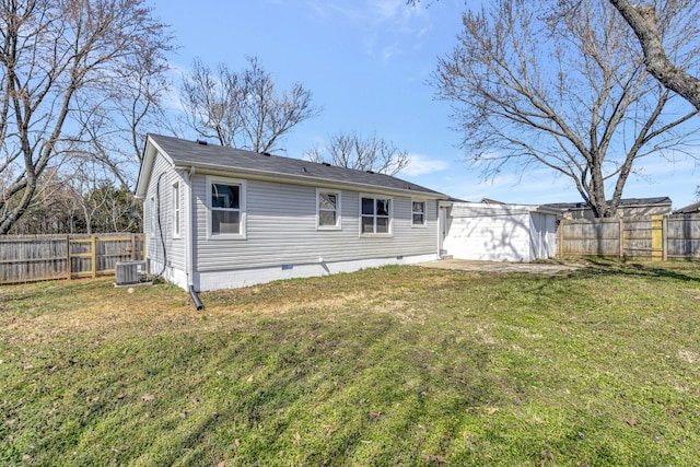
[[[408,151],[399,149],[392,141],[377,138],[376,135],[363,138],[354,132],[331,136],[325,148],[313,147],[306,151],[304,159],[387,175],[396,175],[410,163]]]

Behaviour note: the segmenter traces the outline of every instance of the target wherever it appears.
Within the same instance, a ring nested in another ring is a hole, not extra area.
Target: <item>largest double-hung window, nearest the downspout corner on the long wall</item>
[[[245,238],[245,182],[207,177],[211,238]]]

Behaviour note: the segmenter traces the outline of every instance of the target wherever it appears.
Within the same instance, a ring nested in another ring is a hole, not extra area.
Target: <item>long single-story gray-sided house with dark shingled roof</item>
[[[149,271],[190,291],[438,259],[447,196],[384,174],[149,135]]]

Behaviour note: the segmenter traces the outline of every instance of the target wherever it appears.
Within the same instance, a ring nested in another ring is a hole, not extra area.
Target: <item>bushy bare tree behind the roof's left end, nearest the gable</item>
[[[300,83],[278,92],[255,57],[242,72],[224,63],[212,72],[195,60],[189,77],[183,78],[180,101],[186,125],[199,136],[256,152],[279,150],[284,135],[320,112]]]

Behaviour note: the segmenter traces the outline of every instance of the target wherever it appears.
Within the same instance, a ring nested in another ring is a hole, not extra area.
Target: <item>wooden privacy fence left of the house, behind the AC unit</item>
[[[144,246],[143,234],[0,236],[0,284],[114,275]]]

